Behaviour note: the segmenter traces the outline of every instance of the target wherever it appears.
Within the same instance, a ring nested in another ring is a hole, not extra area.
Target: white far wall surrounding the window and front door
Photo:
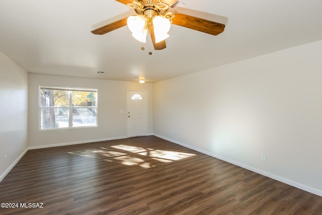
[[[39,86],[98,89],[98,127],[39,130]],[[35,149],[126,137],[127,89],[147,90],[148,133],[152,133],[152,84],[29,74],[29,146]]]

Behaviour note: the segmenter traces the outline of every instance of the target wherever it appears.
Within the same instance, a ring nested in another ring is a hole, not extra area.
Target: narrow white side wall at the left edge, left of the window
[[[28,148],[27,101],[27,72],[0,52],[0,181]]]

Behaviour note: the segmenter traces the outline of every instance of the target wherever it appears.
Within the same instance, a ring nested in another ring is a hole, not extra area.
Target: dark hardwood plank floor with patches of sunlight
[[[0,214],[322,214],[320,196],[155,136],[28,151],[1,202],[19,205]]]

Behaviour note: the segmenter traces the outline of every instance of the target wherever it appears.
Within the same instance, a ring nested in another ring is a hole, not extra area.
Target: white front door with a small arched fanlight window
[[[147,134],[146,91],[127,90],[127,136]]]

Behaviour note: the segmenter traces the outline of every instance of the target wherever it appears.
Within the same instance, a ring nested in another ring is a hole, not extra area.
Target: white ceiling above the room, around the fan
[[[181,13],[218,15],[212,21],[224,22],[224,32],[172,25],[166,49],[155,51],[148,41],[142,51],[126,26],[91,33],[130,11],[114,0],[0,0],[0,51],[29,73],[156,82],[322,40],[321,0],[182,3]]]

